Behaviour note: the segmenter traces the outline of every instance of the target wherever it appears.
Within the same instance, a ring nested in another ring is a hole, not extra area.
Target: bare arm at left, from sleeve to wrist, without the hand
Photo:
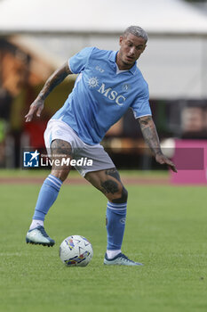
[[[55,70],[53,74],[47,79],[38,97],[42,100],[45,100],[45,98],[52,92],[53,88],[60,85],[60,83],[69,74],[72,74],[72,72],[68,68],[68,63],[65,63],[63,66],[60,67],[59,70]]]

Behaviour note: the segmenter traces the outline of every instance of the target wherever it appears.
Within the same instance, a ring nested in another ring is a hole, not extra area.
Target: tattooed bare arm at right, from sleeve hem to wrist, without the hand
[[[139,125],[142,135],[150,150],[156,155],[162,153],[159,137],[156,132],[155,124],[151,116],[139,118]]]

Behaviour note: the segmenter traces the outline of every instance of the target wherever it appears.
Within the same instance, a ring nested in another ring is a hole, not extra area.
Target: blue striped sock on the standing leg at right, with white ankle
[[[114,258],[121,252],[125,229],[127,202],[107,201],[107,257]],[[113,252],[111,252],[113,250]]]

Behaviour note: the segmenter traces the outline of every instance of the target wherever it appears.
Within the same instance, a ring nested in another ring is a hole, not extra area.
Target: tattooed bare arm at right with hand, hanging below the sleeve
[[[160,164],[168,165],[172,171],[177,172],[175,165],[171,160],[163,155],[160,147],[159,137],[156,132],[155,123],[151,116],[144,116],[139,118],[139,125],[141,128],[142,135],[145,139],[150,150],[155,156],[155,160]]]

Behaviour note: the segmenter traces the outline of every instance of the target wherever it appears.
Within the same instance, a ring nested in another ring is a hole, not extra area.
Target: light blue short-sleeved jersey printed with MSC
[[[135,118],[151,115],[147,82],[137,64],[131,70],[118,70],[116,53],[86,47],[68,61],[70,70],[79,75],[52,119],[67,123],[86,144],[99,144],[129,108]]]

